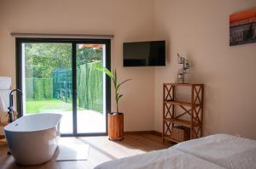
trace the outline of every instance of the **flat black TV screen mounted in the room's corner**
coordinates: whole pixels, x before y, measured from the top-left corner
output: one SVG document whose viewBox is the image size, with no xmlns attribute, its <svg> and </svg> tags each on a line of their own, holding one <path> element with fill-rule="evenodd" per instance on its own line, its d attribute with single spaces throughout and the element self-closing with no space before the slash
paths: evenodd
<svg viewBox="0 0 256 169">
<path fill-rule="evenodd" d="M 166 42 L 124 42 L 124 66 L 166 65 Z"/>
</svg>

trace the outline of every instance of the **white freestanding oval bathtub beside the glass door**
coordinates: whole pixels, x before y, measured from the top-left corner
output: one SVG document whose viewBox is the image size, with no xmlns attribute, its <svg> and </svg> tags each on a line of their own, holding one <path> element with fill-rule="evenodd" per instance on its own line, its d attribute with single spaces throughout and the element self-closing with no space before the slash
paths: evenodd
<svg viewBox="0 0 256 169">
<path fill-rule="evenodd" d="M 61 135 L 61 116 L 52 113 L 26 115 L 4 127 L 16 163 L 37 165 L 53 157 Z"/>
</svg>

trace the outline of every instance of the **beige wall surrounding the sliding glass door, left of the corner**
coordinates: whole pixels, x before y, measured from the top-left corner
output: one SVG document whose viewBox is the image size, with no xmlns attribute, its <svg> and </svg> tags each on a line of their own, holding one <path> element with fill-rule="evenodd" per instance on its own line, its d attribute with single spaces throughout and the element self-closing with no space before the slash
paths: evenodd
<svg viewBox="0 0 256 169">
<path fill-rule="evenodd" d="M 133 79 L 121 88 L 125 131 L 153 130 L 154 68 L 122 66 L 123 42 L 153 37 L 153 4 L 148 0 L 1 0 L 0 76 L 12 76 L 15 87 L 15 38 L 10 32 L 113 34 L 112 67 L 117 68 L 120 81 Z"/>
</svg>

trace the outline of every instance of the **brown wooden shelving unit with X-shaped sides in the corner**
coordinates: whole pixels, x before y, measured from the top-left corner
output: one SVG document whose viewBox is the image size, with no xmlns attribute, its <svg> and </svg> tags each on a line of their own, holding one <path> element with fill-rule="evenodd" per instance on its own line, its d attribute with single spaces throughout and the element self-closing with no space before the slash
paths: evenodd
<svg viewBox="0 0 256 169">
<path fill-rule="evenodd" d="M 190 87 L 191 99 L 190 102 L 177 100 L 177 87 Z M 163 132 L 162 139 L 171 140 L 172 142 L 182 142 L 177 138 L 177 132 L 183 131 L 183 128 L 189 128 L 189 138 L 201 138 L 203 135 L 203 99 L 204 85 L 203 84 L 163 84 Z M 177 113 L 177 107 L 183 112 Z M 184 117 L 186 117 L 184 119 Z M 177 129 L 182 128 L 182 129 Z"/>
</svg>

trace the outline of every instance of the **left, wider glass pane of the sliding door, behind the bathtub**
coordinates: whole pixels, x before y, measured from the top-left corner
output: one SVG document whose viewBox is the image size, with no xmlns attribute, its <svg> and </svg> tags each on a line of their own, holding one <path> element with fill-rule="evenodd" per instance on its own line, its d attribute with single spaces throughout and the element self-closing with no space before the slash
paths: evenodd
<svg viewBox="0 0 256 169">
<path fill-rule="evenodd" d="M 22 42 L 23 114 L 60 113 L 73 133 L 72 43 Z"/>
</svg>

